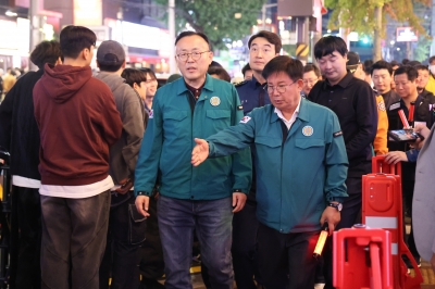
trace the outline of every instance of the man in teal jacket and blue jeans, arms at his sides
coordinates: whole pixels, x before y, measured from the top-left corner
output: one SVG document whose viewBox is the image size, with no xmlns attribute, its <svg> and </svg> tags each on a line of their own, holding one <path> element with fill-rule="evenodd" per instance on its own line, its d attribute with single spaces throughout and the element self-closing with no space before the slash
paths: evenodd
<svg viewBox="0 0 435 289">
<path fill-rule="evenodd" d="M 207 138 L 237 124 L 243 106 L 235 87 L 207 74 L 213 53 L 206 35 L 182 33 L 175 42 L 183 78 L 160 88 L 136 165 L 138 211 L 147 216 L 159 184 L 158 218 L 165 263 L 165 288 L 191 288 L 194 229 L 213 288 L 233 288 L 233 212 L 240 211 L 251 183 L 249 149 L 190 164 L 194 137 Z"/>
</svg>

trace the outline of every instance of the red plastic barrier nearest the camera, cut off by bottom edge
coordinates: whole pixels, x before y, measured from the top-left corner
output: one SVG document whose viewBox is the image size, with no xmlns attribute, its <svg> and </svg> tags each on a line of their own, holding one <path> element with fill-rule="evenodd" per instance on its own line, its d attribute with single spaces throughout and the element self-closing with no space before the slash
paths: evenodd
<svg viewBox="0 0 435 289">
<path fill-rule="evenodd" d="M 395 288 L 390 233 L 384 229 L 356 227 L 334 231 L 334 287 Z"/>
</svg>

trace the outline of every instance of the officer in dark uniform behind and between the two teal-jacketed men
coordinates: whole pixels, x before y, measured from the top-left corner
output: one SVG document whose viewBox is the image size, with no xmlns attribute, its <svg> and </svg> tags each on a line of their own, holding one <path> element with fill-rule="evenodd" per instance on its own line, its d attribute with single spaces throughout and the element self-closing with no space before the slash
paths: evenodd
<svg viewBox="0 0 435 289">
<path fill-rule="evenodd" d="M 261 75 L 265 64 L 279 54 L 282 42 L 274 33 L 261 30 L 248 41 L 249 65 L 253 71 L 252 78 L 236 85 L 244 106 L 245 115 L 253 109 L 270 104 L 268 91 L 263 89 L 265 79 Z M 253 154 L 254 146 L 251 147 Z M 256 168 L 253 167 L 253 171 Z M 252 187 L 244 210 L 233 217 L 233 267 L 238 289 L 256 289 L 253 276 L 261 284 L 256 264 L 256 241 L 258 221 L 256 217 L 256 173 L 252 172 Z"/>
</svg>

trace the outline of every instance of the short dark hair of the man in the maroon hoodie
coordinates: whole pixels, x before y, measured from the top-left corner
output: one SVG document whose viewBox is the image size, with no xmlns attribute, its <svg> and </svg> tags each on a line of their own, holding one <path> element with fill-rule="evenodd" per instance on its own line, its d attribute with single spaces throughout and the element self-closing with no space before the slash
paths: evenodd
<svg viewBox="0 0 435 289">
<path fill-rule="evenodd" d="M 60 35 L 61 51 L 64 58 L 76 59 L 84 49 L 96 46 L 96 34 L 84 26 L 70 25 Z"/>
</svg>

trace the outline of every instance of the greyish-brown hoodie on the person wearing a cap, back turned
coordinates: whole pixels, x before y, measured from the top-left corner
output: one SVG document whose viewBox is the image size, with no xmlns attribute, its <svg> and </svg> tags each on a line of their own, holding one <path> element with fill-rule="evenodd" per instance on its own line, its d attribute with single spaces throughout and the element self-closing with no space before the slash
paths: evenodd
<svg viewBox="0 0 435 289">
<path fill-rule="evenodd" d="M 112 90 L 123 123 L 121 138 L 110 148 L 109 173 L 115 185 L 133 178 L 146 128 L 144 103 L 136 91 L 117 74 L 101 72 L 96 78 Z"/>
</svg>

